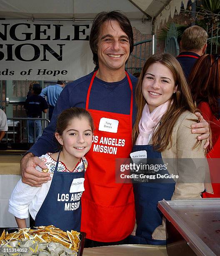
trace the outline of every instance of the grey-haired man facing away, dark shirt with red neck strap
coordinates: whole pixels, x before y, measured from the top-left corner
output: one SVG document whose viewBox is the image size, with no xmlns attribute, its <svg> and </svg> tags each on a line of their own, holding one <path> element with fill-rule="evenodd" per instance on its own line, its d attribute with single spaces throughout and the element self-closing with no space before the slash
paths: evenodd
<svg viewBox="0 0 220 256">
<path fill-rule="evenodd" d="M 177 59 L 187 80 L 195 62 L 205 53 L 207 38 L 208 34 L 205 29 L 199 26 L 192 26 L 183 32 L 180 41 L 180 54 Z"/>
</svg>

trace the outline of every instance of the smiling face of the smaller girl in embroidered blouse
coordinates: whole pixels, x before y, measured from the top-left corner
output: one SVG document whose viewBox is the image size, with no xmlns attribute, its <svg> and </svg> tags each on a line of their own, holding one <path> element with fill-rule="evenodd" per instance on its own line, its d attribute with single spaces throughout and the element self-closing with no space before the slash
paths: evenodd
<svg viewBox="0 0 220 256">
<path fill-rule="evenodd" d="M 64 155 L 80 159 L 92 145 L 92 128 L 86 118 L 73 118 L 60 136 L 55 133 L 57 141 L 62 145 Z"/>
</svg>

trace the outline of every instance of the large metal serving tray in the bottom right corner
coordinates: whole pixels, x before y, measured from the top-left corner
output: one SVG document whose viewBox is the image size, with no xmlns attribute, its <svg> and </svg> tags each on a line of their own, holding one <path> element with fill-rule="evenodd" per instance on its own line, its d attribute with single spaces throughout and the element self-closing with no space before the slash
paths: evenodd
<svg viewBox="0 0 220 256">
<path fill-rule="evenodd" d="M 220 198 L 163 200 L 158 208 L 166 218 L 169 256 L 220 256 Z M 180 236 L 190 248 L 182 246 Z"/>
</svg>

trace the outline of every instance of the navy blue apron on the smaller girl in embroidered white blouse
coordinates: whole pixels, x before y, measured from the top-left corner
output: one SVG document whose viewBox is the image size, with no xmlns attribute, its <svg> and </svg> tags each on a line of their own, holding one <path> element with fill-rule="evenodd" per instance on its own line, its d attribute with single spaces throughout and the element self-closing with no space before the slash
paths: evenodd
<svg viewBox="0 0 220 256">
<path fill-rule="evenodd" d="M 60 153 L 50 189 L 37 212 L 35 225 L 54 225 L 64 231 L 80 231 L 82 192 L 70 193 L 70 187 L 73 179 L 84 178 L 85 166 L 83 172 L 57 172 L 59 156 Z"/>
</svg>

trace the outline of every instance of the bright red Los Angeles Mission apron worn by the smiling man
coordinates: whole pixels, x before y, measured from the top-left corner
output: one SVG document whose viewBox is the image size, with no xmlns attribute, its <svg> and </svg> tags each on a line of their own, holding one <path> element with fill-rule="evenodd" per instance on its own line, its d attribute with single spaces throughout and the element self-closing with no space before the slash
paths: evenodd
<svg viewBox="0 0 220 256">
<path fill-rule="evenodd" d="M 115 159 L 128 158 L 132 149 L 133 88 L 126 72 L 131 89 L 130 115 L 89 109 L 95 75 L 96 72 L 92 76 L 86 99 L 86 110 L 95 123 L 95 139 L 86 154 L 88 168 L 85 173 L 85 192 L 82 194 L 81 231 L 94 241 L 116 242 L 129 236 L 135 225 L 133 186 L 115 183 Z M 116 123 L 118 121 L 117 132 L 100 131 L 103 125 L 102 128 L 99 126 L 105 118 L 113 119 Z"/>
</svg>

